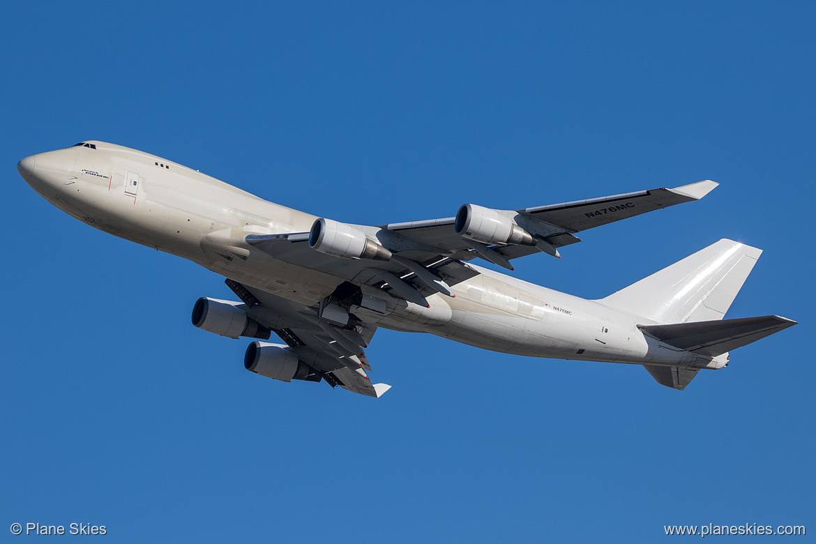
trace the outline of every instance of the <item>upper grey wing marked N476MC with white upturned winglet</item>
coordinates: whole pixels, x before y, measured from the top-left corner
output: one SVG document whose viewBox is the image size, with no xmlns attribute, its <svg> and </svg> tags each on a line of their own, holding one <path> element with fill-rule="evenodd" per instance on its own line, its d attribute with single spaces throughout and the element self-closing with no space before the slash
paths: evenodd
<svg viewBox="0 0 816 544">
<path fill-rule="evenodd" d="M 660 210 L 683 202 L 698 200 L 716 187 L 713 181 L 701 181 L 683 187 L 628 192 L 611 197 L 564 202 L 524 210 L 486 210 L 499 223 L 529 230 L 526 243 L 483 243 L 456 232 L 456 218 L 430 219 L 410 223 L 390 223 L 379 227 L 346 225 L 343 236 L 366 237 L 383 250 L 377 257 L 339 259 L 309 245 L 309 232 L 249 234 L 247 244 L 276 259 L 304 268 L 325 272 L 355 285 L 370 285 L 410 302 L 428 306 L 426 297 L 441 293 L 450 296 L 450 286 L 466 281 L 478 272 L 467 262 L 486 259 L 512 270 L 511 259 L 543 251 L 560 257 L 557 248 L 581 241 L 575 232 L 619 219 Z M 468 205 L 471 206 L 471 205 Z M 465 207 L 465 206 L 463 206 Z M 326 222 L 322 228 L 329 224 Z M 508 229 L 511 227 L 508 227 Z M 351 229 L 351 230 L 349 230 Z M 339 232 L 339 231 L 338 231 Z M 344 238 L 344 243 L 346 239 Z M 388 257 L 382 257 L 387 254 Z"/>
</svg>

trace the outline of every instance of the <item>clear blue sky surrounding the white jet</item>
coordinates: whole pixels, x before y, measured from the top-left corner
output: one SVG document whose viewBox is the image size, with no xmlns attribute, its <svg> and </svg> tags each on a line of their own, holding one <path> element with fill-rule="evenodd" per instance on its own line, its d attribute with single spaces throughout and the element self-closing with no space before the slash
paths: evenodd
<svg viewBox="0 0 816 544">
<path fill-rule="evenodd" d="M 508 2 L 504 2 L 508 3 Z M 341 2 L 342 4 L 342 2 Z M 814 504 L 812 2 L 6 2 L 0 540 L 657 542 Z M 353 223 L 700 179 L 516 275 L 596 298 L 720 238 L 729 313 L 800 325 L 685 391 L 637 366 L 380 330 L 379 400 L 246 372 L 223 278 L 95 231 L 20 158 L 101 139 Z"/>
</svg>

